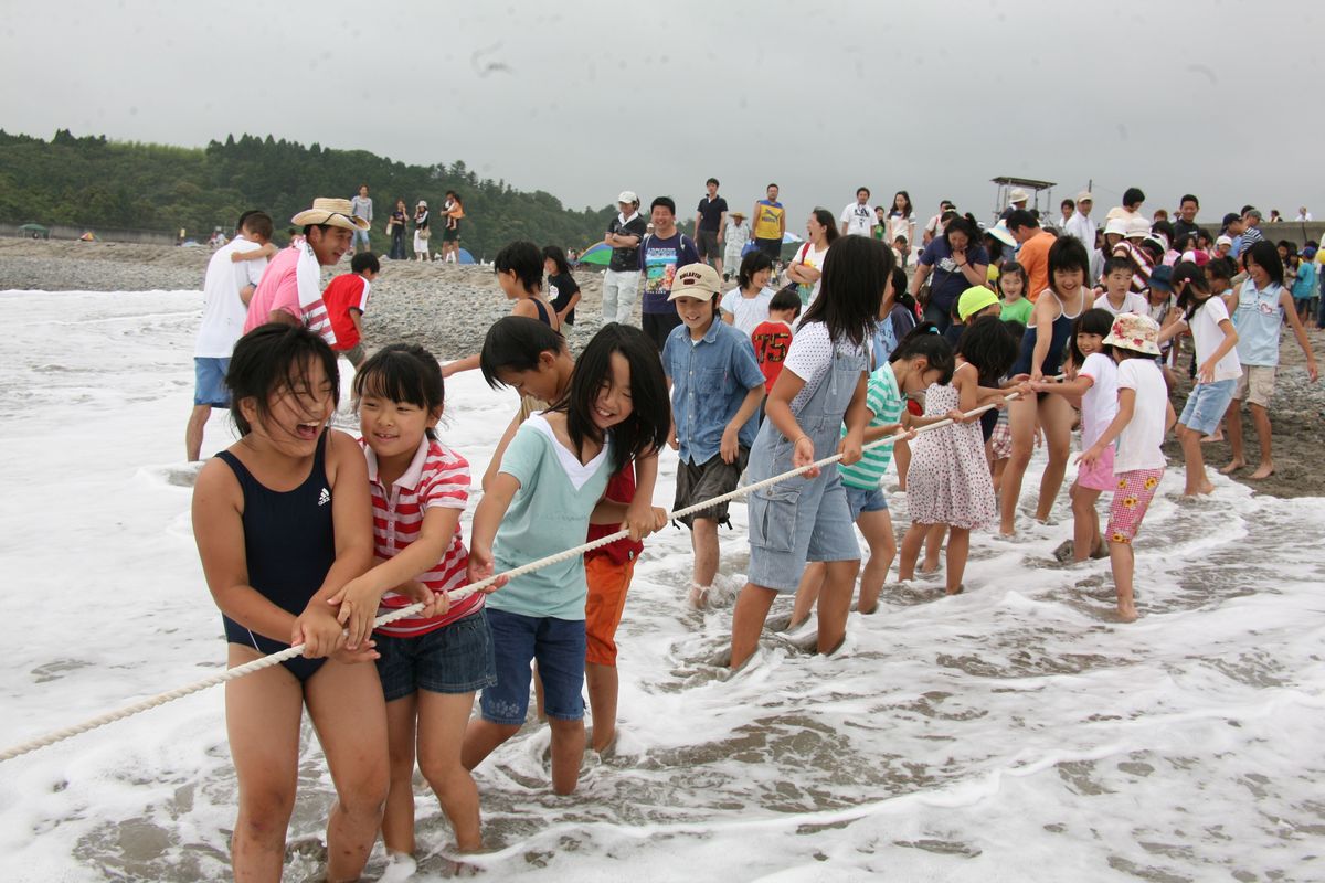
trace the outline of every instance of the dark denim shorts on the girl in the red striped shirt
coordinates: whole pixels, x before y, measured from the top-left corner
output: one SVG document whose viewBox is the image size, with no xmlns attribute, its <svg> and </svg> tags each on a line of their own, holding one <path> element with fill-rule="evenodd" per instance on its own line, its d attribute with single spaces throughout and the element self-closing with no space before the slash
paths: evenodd
<svg viewBox="0 0 1325 883">
<path fill-rule="evenodd" d="M 387 702 L 428 692 L 465 694 L 497 683 L 492 633 L 484 610 L 415 638 L 375 634 L 378 676 Z"/>
</svg>

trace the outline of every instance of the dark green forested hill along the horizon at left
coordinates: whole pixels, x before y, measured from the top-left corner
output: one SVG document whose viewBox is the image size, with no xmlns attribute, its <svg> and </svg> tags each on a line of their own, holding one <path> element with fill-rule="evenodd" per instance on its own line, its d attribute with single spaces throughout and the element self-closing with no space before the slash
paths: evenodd
<svg viewBox="0 0 1325 883">
<path fill-rule="evenodd" d="M 205 148 L 76 138 L 61 128 L 45 142 L 0 130 L 0 221 L 227 236 L 249 208 L 272 214 L 284 241 L 289 218 L 315 196 L 348 199 L 368 184 L 374 248 L 386 250 L 386 221 L 396 197 L 412 217 L 417 200 L 436 209 L 460 193 L 466 220 L 461 246 L 488 258 L 511 240 L 583 248 L 603 238 L 613 207 L 579 212 L 551 193 L 526 193 L 502 180 L 450 165 L 405 165 L 359 150 L 303 147 L 270 135 L 229 135 Z M 407 245 L 408 248 L 408 245 Z"/>
</svg>

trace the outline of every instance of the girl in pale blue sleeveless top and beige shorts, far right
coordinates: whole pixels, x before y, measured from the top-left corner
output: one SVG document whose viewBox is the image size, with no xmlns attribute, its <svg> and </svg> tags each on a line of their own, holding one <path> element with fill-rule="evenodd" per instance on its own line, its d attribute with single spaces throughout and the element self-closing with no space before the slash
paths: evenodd
<svg viewBox="0 0 1325 883">
<path fill-rule="evenodd" d="M 1284 265 L 1279 252 L 1269 242 L 1253 242 L 1244 256 L 1247 275 L 1242 289 L 1234 297 L 1234 327 L 1238 328 L 1238 360 L 1242 363 L 1242 379 L 1234 391 L 1228 405 L 1228 446 L 1232 447 L 1232 461 L 1220 469 L 1224 475 L 1236 473 L 1247 465 L 1243 458 L 1242 402 L 1251 402 L 1251 417 L 1260 440 L 1260 466 L 1251 474 L 1253 481 L 1275 474 L 1275 459 L 1271 447 L 1269 400 L 1275 395 L 1275 369 L 1279 365 L 1279 330 L 1288 319 L 1297 346 L 1306 356 L 1306 376 L 1312 383 L 1318 379 L 1316 356 L 1306 339 L 1293 298 L 1284 290 Z"/>
</svg>

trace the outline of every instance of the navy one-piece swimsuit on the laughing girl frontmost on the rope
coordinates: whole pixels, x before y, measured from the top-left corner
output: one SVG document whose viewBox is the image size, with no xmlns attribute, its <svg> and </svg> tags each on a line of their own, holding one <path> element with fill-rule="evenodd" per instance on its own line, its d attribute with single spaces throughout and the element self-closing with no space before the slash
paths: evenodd
<svg viewBox="0 0 1325 883">
<path fill-rule="evenodd" d="M 288 613 L 298 616 L 322 588 L 335 561 L 335 528 L 331 520 L 331 483 L 326 475 L 327 436 L 318 440 L 313 470 L 293 491 L 273 491 L 260 483 L 229 451 L 216 455 L 235 471 L 244 490 L 244 555 L 249 585 Z M 225 639 L 258 653 L 272 654 L 290 645 L 225 621 Z M 326 659 L 298 657 L 282 662 L 290 674 L 307 680 Z"/>
</svg>

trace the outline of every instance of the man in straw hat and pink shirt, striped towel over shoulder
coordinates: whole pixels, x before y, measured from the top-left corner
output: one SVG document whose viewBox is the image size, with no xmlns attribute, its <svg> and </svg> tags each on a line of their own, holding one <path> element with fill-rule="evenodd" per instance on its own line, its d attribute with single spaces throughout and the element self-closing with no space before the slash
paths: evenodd
<svg viewBox="0 0 1325 883">
<path fill-rule="evenodd" d="M 335 346 L 335 331 L 322 302 L 322 267 L 335 266 L 350 250 L 354 232 L 368 222 L 354 214 L 350 200 L 321 196 L 290 222 L 303 228 L 303 242 L 272 258 L 249 302 L 244 334 L 268 322 L 302 324 Z"/>
</svg>

